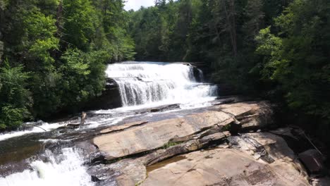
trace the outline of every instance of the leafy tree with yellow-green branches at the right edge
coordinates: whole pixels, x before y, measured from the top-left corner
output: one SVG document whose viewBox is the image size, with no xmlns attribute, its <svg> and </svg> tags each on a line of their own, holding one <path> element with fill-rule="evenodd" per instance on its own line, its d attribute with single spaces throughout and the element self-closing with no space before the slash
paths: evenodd
<svg viewBox="0 0 330 186">
<path fill-rule="evenodd" d="M 330 117 L 329 3 L 295 0 L 275 19 L 278 37 L 261 30 L 263 77 L 281 83 L 293 109 Z M 328 92 L 328 93 L 326 93 Z"/>
</svg>

